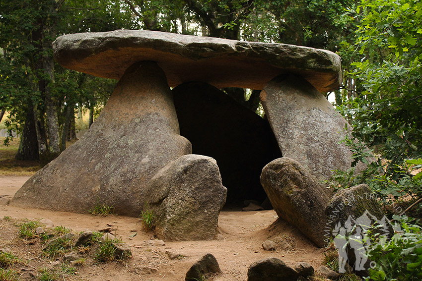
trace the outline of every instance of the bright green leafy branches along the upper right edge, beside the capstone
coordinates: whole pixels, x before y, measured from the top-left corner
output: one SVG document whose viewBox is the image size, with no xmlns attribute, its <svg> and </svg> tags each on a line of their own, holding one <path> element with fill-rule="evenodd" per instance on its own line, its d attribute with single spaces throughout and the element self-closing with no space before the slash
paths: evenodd
<svg viewBox="0 0 422 281">
<path fill-rule="evenodd" d="M 397 167 L 422 155 L 422 2 L 362 0 L 349 16 L 359 22 L 354 46 L 343 44 L 356 87 L 340 110 L 353 137 L 379 150 L 397 180 Z"/>
</svg>

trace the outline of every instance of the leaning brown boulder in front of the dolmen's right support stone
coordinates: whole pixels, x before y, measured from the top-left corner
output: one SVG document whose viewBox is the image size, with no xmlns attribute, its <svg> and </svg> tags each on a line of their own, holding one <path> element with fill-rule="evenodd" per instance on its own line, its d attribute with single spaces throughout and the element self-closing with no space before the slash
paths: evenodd
<svg viewBox="0 0 422 281">
<path fill-rule="evenodd" d="M 264 167 L 261 183 L 277 215 L 323 247 L 324 210 L 330 199 L 310 173 L 298 162 L 283 157 Z"/>
</svg>

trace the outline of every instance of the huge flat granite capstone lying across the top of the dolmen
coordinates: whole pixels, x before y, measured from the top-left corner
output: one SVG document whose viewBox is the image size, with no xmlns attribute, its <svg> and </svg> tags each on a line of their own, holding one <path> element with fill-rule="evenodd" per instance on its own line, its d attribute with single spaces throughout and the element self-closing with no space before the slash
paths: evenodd
<svg viewBox="0 0 422 281">
<path fill-rule="evenodd" d="M 156 61 L 170 87 L 201 81 L 217 88 L 262 89 L 286 72 L 302 75 L 321 92 L 336 90 L 341 83 L 339 56 L 285 44 L 116 30 L 64 35 L 53 42 L 53 50 L 67 68 L 113 79 L 137 61 Z"/>
</svg>

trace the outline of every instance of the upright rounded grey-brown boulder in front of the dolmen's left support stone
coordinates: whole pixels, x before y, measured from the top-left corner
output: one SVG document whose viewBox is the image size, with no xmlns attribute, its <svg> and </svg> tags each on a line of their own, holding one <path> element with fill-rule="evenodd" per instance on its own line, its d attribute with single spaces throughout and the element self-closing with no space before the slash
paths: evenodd
<svg viewBox="0 0 422 281">
<path fill-rule="evenodd" d="M 154 175 L 146 192 L 159 238 L 180 241 L 215 237 L 227 189 L 211 157 L 180 157 Z"/>
</svg>

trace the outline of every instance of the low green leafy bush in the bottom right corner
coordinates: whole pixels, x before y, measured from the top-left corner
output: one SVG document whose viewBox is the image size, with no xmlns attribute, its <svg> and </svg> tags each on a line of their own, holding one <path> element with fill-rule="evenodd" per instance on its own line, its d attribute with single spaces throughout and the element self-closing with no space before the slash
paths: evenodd
<svg viewBox="0 0 422 281">
<path fill-rule="evenodd" d="M 382 239 L 368 253 L 373 267 L 369 278 L 374 281 L 419 281 L 422 279 L 422 228 L 410 225 L 406 218 L 401 220 L 404 233 L 396 233 L 388 239 L 380 237 L 376 231 L 367 235 L 375 243 Z"/>
</svg>

